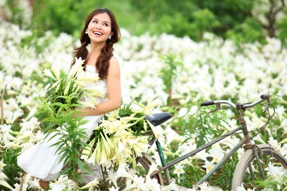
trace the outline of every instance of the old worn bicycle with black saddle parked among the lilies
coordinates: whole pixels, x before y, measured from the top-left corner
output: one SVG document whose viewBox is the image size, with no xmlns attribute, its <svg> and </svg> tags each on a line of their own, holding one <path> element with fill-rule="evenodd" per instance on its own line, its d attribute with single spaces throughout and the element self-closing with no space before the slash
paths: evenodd
<svg viewBox="0 0 287 191">
<path fill-rule="evenodd" d="M 168 168 L 183 161 L 184 159 L 187 159 L 191 157 L 192 155 L 199 153 L 200 151 L 212 146 L 213 144 L 225 139 L 226 137 L 237 134 L 237 133 L 243 133 L 243 138 L 237 143 L 237 145 L 231 149 L 229 153 L 227 153 L 204 177 L 201 178 L 200 181 L 197 182 L 195 186 L 198 186 L 205 182 L 211 175 L 219 169 L 224 162 L 226 162 L 234 153 L 236 153 L 241 147 L 244 148 L 244 153 L 240 157 L 239 162 L 236 166 L 236 169 L 234 171 L 234 176 L 233 176 L 233 181 L 232 181 L 232 190 L 236 191 L 239 186 L 241 186 L 242 183 L 244 183 L 244 186 L 246 188 L 250 187 L 256 187 L 256 180 L 266 180 L 266 172 L 265 168 L 268 167 L 268 165 L 272 164 L 274 166 L 282 166 L 285 169 L 287 169 L 287 160 L 284 156 L 282 156 L 280 153 L 278 153 L 273 146 L 268 145 L 268 144 L 261 144 L 261 145 L 255 145 L 251 143 L 252 138 L 249 136 L 249 131 L 246 125 L 246 121 L 242 115 L 242 111 L 244 112 L 246 108 L 251 108 L 257 104 L 261 104 L 261 102 L 267 100 L 267 104 L 265 106 L 265 109 L 263 111 L 268 111 L 268 121 L 259 129 L 259 133 L 266 127 L 268 124 L 269 120 L 272 118 L 272 115 L 270 117 L 269 109 L 268 106 L 271 105 L 270 103 L 270 95 L 269 94 L 262 94 L 260 96 L 260 99 L 253 103 L 248 103 L 248 104 L 234 104 L 230 101 L 227 100 L 218 100 L 218 101 L 207 101 L 207 102 L 202 102 L 200 103 L 200 106 L 210 106 L 210 105 L 216 105 L 216 108 L 209 113 L 216 112 L 218 110 L 221 110 L 221 104 L 227 104 L 230 105 L 232 108 L 236 108 L 238 115 L 239 115 L 239 126 L 228 133 L 212 140 L 211 142 L 195 149 L 194 151 L 184 154 L 170 162 L 166 162 L 164 155 L 163 155 L 163 150 L 161 147 L 160 142 L 153 136 L 149 144 L 150 146 L 152 144 L 156 144 L 156 148 L 160 160 L 161 160 L 161 166 L 158 168 L 157 171 L 153 172 L 150 176 L 157 179 L 158 183 L 160 185 L 164 184 L 164 179 L 161 175 L 161 172 L 164 172 L 165 175 L 165 181 L 167 184 L 171 183 L 171 178 L 169 174 Z M 261 104 L 262 105 L 262 104 Z M 272 105 L 271 105 L 272 106 Z M 229 108 L 230 108 L 229 107 Z M 272 106 L 273 107 L 273 106 Z M 274 107 L 273 107 L 274 108 Z M 152 114 L 152 115 L 147 115 L 146 119 L 149 120 L 154 126 L 160 125 L 163 122 L 167 121 L 170 119 L 172 115 L 170 113 L 164 112 L 164 113 L 159 113 L 159 114 Z M 238 131 L 242 132 L 238 132 Z M 258 134 L 259 134 L 258 133 Z M 143 157 L 137 158 L 137 162 L 140 162 L 144 169 L 146 171 L 149 170 L 149 166 L 153 162 L 151 157 L 148 154 L 145 154 Z M 269 164 L 270 163 L 270 164 Z M 248 172 L 248 170 L 249 172 Z"/>
</svg>

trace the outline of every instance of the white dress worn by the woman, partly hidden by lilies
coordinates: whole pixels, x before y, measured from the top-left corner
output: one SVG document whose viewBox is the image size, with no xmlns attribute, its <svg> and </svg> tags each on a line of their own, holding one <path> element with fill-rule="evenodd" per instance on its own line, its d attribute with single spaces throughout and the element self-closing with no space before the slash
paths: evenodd
<svg viewBox="0 0 287 191">
<path fill-rule="evenodd" d="M 86 65 L 87 75 L 90 73 L 96 73 L 96 68 L 90 65 Z M 107 86 L 105 80 L 99 80 L 97 82 L 88 83 L 87 87 L 101 86 L 104 89 L 104 92 L 107 96 Z M 106 99 L 95 97 L 98 103 L 107 101 Z M 83 97 L 85 101 L 89 101 L 89 97 Z M 91 115 L 85 116 L 83 120 L 88 121 L 86 124 L 81 125 L 80 128 L 85 128 L 87 134 L 90 137 L 92 131 L 97 126 L 98 121 L 103 115 Z M 56 146 L 50 147 L 52 144 L 56 143 L 59 139 L 58 136 L 55 136 L 53 139 L 49 140 L 52 134 L 48 136 L 45 140 L 37 143 L 24 153 L 21 153 L 17 157 L 17 164 L 20 166 L 26 173 L 30 173 L 32 176 L 41 178 L 44 181 L 54 181 L 58 178 L 60 171 L 62 170 L 64 163 L 59 162 L 61 155 L 55 154 Z M 49 140 L 49 141 L 48 141 Z M 89 164 L 90 168 L 91 165 Z M 96 166 L 98 168 L 98 166 Z M 95 168 L 95 166 L 94 166 Z M 93 176 L 95 177 L 95 176 Z M 90 178 L 89 178 L 90 179 Z M 89 180 L 90 182 L 92 180 Z M 86 182 L 86 181 L 84 181 Z"/>
</svg>

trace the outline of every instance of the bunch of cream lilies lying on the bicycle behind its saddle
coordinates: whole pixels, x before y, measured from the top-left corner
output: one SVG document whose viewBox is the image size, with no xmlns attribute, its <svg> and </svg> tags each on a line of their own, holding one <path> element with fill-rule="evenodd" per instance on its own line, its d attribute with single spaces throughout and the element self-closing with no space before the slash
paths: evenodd
<svg viewBox="0 0 287 191">
<path fill-rule="evenodd" d="M 131 102 L 130 104 L 105 115 L 94 130 L 93 138 L 81 158 L 88 163 L 95 162 L 103 166 L 120 166 L 129 162 L 136 166 L 136 157 L 148 151 L 148 132 L 158 135 L 156 128 L 145 119 L 159 106 L 157 98 L 147 106 Z M 93 147 L 96 146 L 96 147 Z"/>
</svg>

